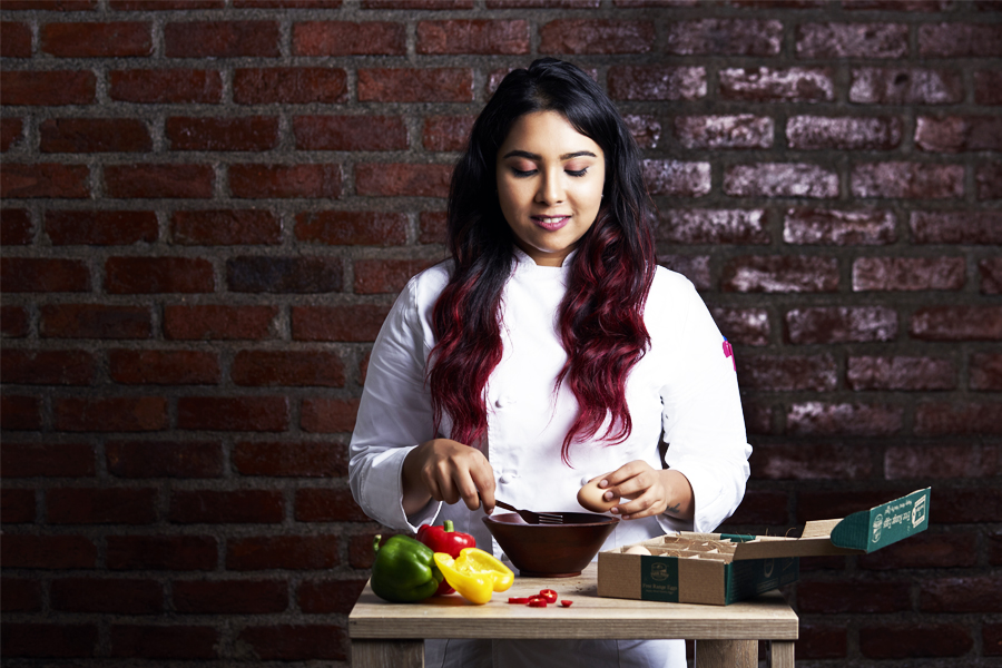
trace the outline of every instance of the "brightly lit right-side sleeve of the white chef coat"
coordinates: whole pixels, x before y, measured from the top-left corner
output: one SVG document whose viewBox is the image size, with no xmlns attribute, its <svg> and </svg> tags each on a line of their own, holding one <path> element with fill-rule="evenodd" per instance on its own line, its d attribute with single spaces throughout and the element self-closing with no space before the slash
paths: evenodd
<svg viewBox="0 0 1002 668">
<path fill-rule="evenodd" d="M 752 446 L 729 344 L 691 283 L 674 292 L 679 317 L 671 327 L 670 380 L 661 390 L 665 461 L 692 485 L 694 531 L 711 532 L 745 495 Z M 677 524 L 659 521 L 666 531 Z"/>
</svg>

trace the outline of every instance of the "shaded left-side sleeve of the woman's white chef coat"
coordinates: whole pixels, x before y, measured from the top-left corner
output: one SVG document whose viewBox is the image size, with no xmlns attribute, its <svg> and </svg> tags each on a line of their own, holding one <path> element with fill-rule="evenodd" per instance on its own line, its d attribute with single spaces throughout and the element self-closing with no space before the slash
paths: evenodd
<svg viewBox="0 0 1002 668">
<path fill-rule="evenodd" d="M 418 307 L 418 278 L 396 298 L 376 337 L 352 433 L 348 481 L 352 494 L 373 520 L 416 531 L 433 523 L 441 502 L 430 501 L 411 517 L 403 510 L 403 461 L 434 438 L 431 396 L 425 386 L 430 347 Z"/>
</svg>

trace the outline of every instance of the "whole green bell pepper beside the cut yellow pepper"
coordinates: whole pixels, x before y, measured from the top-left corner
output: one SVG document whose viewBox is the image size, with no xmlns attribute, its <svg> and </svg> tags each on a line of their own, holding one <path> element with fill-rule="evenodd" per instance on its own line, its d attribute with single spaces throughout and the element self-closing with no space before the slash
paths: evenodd
<svg viewBox="0 0 1002 668">
<path fill-rule="evenodd" d="M 431 548 L 406 536 L 393 536 L 382 548 L 380 536 L 372 549 L 372 591 L 394 603 L 414 603 L 432 596 L 442 582 Z"/>
</svg>

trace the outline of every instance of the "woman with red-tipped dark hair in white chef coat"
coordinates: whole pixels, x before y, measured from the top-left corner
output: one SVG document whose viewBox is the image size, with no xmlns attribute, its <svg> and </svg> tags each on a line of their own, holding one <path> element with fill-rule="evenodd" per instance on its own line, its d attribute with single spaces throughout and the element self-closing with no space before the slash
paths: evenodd
<svg viewBox="0 0 1002 668">
<path fill-rule="evenodd" d="M 501 556 L 480 521 L 495 497 L 580 511 L 597 475 L 623 497 L 603 549 L 734 512 L 750 454 L 734 361 L 692 285 L 657 266 L 655 215 L 598 85 L 554 59 L 504 78 L 453 174 L 452 259 L 411 279 L 373 347 L 350 474 L 371 518 L 451 519 Z M 678 640 L 428 648 L 429 666 L 685 666 Z"/>
</svg>

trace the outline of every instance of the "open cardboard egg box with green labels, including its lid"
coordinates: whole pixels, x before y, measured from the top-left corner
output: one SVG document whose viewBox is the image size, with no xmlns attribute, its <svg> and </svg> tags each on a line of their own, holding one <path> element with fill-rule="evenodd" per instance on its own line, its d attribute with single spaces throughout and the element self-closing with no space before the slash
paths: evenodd
<svg viewBox="0 0 1002 668">
<path fill-rule="evenodd" d="M 931 488 L 843 520 L 807 522 L 799 538 L 691 533 L 599 552 L 598 595 L 727 606 L 795 582 L 800 557 L 864 554 L 929 527 Z M 635 546 L 651 556 L 629 554 Z"/>
</svg>

